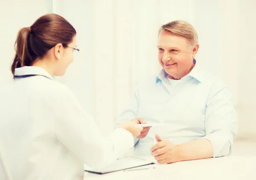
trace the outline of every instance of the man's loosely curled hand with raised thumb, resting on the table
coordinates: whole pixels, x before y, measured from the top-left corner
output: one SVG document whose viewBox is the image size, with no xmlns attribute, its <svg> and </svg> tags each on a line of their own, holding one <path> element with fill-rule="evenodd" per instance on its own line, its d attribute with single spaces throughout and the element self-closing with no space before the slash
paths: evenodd
<svg viewBox="0 0 256 180">
<path fill-rule="evenodd" d="M 150 149 L 158 163 L 175 163 L 180 161 L 180 153 L 176 145 L 171 141 L 163 140 L 156 134 L 157 143 Z"/>
</svg>

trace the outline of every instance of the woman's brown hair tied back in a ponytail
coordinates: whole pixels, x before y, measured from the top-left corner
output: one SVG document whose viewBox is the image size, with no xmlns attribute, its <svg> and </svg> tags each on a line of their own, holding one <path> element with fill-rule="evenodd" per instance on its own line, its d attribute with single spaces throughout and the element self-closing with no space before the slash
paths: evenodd
<svg viewBox="0 0 256 180">
<path fill-rule="evenodd" d="M 75 28 L 57 14 L 46 14 L 30 27 L 21 28 L 15 42 L 16 54 L 11 68 L 13 76 L 15 68 L 31 66 L 32 62 L 43 58 L 58 43 L 66 48 L 75 35 Z"/>
</svg>

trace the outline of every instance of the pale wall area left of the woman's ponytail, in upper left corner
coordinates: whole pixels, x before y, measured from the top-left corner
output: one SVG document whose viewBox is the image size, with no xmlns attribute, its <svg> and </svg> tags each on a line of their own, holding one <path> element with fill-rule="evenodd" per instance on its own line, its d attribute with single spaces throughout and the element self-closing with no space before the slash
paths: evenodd
<svg viewBox="0 0 256 180">
<path fill-rule="evenodd" d="M 12 78 L 11 62 L 14 44 L 20 28 L 29 27 L 35 20 L 51 13 L 51 0 L 1 0 L 0 2 L 0 84 Z"/>
</svg>

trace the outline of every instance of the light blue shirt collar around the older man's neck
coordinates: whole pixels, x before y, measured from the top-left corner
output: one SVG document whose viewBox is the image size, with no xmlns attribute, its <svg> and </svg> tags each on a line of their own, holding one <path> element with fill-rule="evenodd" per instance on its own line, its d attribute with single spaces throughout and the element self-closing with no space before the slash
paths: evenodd
<svg viewBox="0 0 256 180">
<path fill-rule="evenodd" d="M 197 62 L 194 68 L 190 71 L 190 73 L 188 73 L 183 78 L 190 76 L 197 79 L 199 82 L 202 82 L 204 75 L 205 75 L 204 70 L 201 68 L 201 65 L 198 64 Z M 163 79 L 165 79 L 166 77 L 167 77 L 166 71 L 164 69 L 160 70 L 160 73 L 158 73 L 156 77 L 156 83 L 159 82 L 160 80 L 163 81 Z"/>
</svg>

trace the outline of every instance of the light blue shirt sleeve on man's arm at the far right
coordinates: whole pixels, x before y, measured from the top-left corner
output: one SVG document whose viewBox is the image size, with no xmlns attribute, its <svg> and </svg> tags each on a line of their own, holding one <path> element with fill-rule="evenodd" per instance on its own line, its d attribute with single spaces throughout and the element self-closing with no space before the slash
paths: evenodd
<svg viewBox="0 0 256 180">
<path fill-rule="evenodd" d="M 213 158 L 230 155 L 237 133 L 237 116 L 230 90 L 215 82 L 209 92 L 205 114 L 205 139 L 212 143 Z"/>
</svg>

